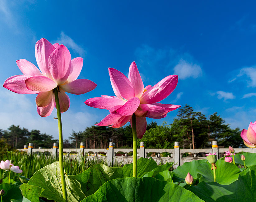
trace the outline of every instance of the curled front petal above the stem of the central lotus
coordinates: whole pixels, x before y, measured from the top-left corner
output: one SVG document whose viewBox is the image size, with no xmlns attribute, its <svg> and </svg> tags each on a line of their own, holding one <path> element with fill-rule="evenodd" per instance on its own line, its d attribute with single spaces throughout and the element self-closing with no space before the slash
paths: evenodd
<svg viewBox="0 0 256 202">
<path fill-rule="evenodd" d="M 110 109 L 110 113 L 117 113 L 122 116 L 129 116 L 132 115 L 140 105 L 140 99 L 137 97 L 133 97 L 128 100 L 123 106 L 119 107 L 118 109 Z M 115 107 L 114 107 L 115 108 Z"/>
</svg>

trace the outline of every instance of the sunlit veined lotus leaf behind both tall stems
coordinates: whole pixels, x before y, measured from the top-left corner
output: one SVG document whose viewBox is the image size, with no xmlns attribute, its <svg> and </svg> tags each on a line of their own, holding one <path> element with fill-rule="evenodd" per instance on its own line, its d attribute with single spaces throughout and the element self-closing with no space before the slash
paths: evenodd
<svg viewBox="0 0 256 202">
<path fill-rule="evenodd" d="M 137 176 L 142 177 L 156 167 L 157 164 L 153 159 L 140 158 L 137 161 Z M 86 196 L 95 193 L 105 182 L 130 176 L 133 176 L 133 164 L 126 164 L 122 168 L 96 164 L 77 175 L 66 175 L 68 200 L 80 201 Z M 58 161 L 38 170 L 27 184 L 43 188 L 42 197 L 55 201 L 63 200 Z"/>
</svg>

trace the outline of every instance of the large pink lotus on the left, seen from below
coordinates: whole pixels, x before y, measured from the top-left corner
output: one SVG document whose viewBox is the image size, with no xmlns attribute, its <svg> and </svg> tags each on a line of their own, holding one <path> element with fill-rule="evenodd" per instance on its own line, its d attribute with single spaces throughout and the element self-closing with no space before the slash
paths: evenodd
<svg viewBox="0 0 256 202">
<path fill-rule="evenodd" d="M 55 106 L 54 88 L 58 89 L 61 112 L 65 112 L 70 105 L 65 92 L 80 95 L 96 87 L 96 84 L 88 79 L 77 79 L 83 59 L 77 57 L 71 60 L 70 52 L 64 45 L 52 45 L 42 38 L 35 44 L 35 59 L 41 72 L 31 62 L 17 60 L 23 75 L 8 78 L 3 87 L 21 94 L 37 93 L 35 101 L 40 116 L 49 116 L 52 113 Z"/>
</svg>

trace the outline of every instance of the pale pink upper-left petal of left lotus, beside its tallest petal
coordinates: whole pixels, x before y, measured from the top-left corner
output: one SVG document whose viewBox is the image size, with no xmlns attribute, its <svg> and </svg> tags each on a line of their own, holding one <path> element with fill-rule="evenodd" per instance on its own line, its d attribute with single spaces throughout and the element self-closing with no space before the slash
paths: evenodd
<svg viewBox="0 0 256 202">
<path fill-rule="evenodd" d="M 22 74 L 35 76 L 35 75 L 42 75 L 40 70 L 31 62 L 21 59 L 16 61 L 18 67 L 20 68 Z"/>
</svg>

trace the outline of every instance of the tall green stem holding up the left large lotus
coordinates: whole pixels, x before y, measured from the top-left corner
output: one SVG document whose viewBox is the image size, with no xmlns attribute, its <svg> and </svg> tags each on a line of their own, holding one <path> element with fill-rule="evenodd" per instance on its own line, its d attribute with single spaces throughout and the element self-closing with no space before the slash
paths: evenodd
<svg viewBox="0 0 256 202">
<path fill-rule="evenodd" d="M 63 165 L 62 123 L 61 123 L 60 105 L 59 105 L 59 97 L 58 97 L 58 90 L 57 90 L 57 88 L 54 88 L 54 96 L 55 96 L 57 116 L 58 116 L 58 129 L 59 129 L 59 169 L 60 169 L 60 177 L 61 177 L 62 195 L 63 195 L 63 201 L 67 202 L 67 188 L 66 188 L 64 165 Z"/>
</svg>

